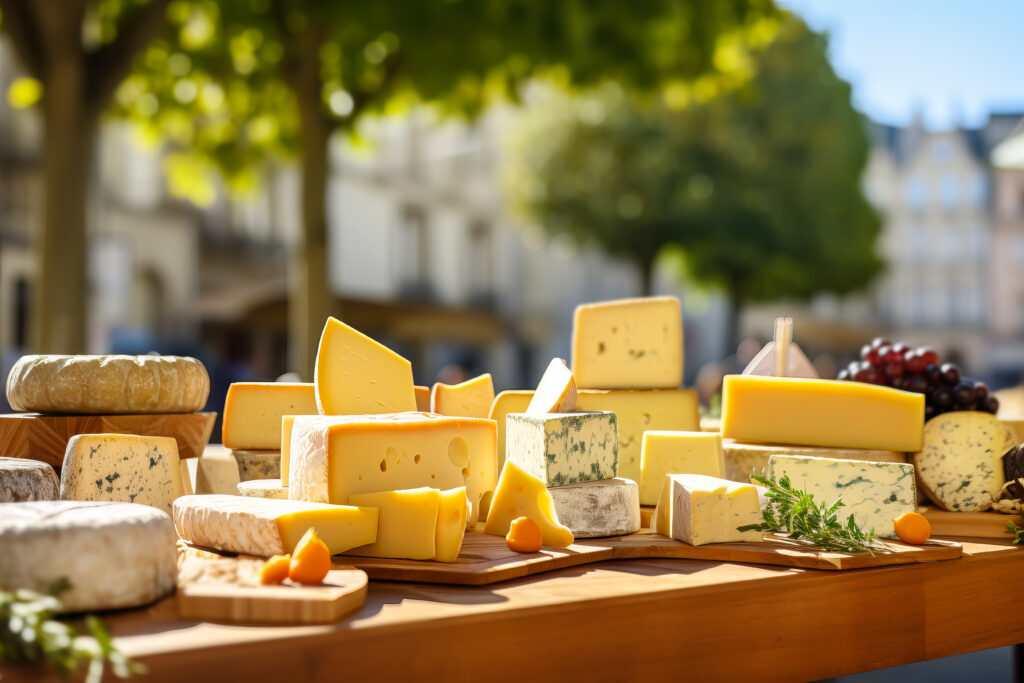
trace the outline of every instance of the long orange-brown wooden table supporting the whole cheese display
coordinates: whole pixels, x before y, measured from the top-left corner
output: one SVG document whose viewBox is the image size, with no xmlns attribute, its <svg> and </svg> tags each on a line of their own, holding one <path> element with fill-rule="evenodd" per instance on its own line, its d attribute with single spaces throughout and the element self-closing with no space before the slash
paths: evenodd
<svg viewBox="0 0 1024 683">
<path fill-rule="evenodd" d="M 148 680 L 175 683 L 813 680 L 1022 642 L 1022 575 L 1024 549 L 978 540 L 959 560 L 849 571 L 634 560 L 481 588 L 374 582 L 329 627 L 185 623 L 173 599 L 108 623 Z"/>
</svg>

